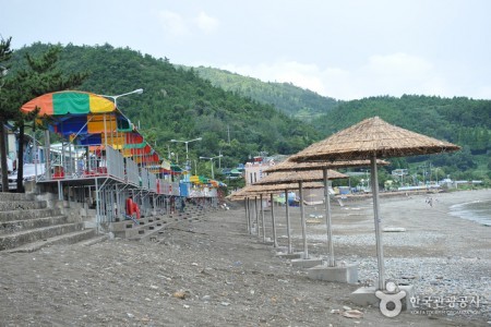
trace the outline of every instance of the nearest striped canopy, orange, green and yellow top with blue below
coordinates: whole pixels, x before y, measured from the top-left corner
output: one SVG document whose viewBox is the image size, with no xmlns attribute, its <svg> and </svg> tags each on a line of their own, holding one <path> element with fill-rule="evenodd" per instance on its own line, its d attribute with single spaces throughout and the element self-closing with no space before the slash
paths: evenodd
<svg viewBox="0 0 491 327">
<path fill-rule="evenodd" d="M 115 102 L 103 96 L 79 90 L 48 93 L 26 102 L 21 111 L 28 113 L 36 109 L 39 110 L 38 117 L 50 118 L 51 132 L 73 144 L 97 146 L 99 149 L 109 145 L 143 166 L 160 161 L 155 149 Z"/>
</svg>

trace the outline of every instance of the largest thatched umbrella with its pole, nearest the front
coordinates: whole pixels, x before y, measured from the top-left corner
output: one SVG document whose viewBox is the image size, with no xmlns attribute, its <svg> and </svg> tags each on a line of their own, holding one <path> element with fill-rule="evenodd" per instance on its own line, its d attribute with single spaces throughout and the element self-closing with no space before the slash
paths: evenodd
<svg viewBox="0 0 491 327">
<path fill-rule="evenodd" d="M 333 134 L 324 141 L 312 144 L 290 158 L 292 161 L 298 162 L 370 159 L 379 289 L 384 290 L 384 256 L 380 226 L 381 219 L 379 217 L 376 158 L 440 154 L 458 149 L 460 147 L 452 143 L 391 125 L 379 117 L 374 117 Z"/>
</svg>

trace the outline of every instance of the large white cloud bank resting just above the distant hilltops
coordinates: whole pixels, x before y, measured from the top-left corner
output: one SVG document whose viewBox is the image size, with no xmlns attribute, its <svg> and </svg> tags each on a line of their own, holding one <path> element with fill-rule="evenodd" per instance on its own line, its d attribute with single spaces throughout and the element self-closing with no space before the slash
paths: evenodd
<svg viewBox="0 0 491 327">
<path fill-rule="evenodd" d="M 421 57 L 408 53 L 374 55 L 349 69 L 278 59 L 256 65 L 221 65 L 221 69 L 265 82 L 287 82 L 336 99 L 403 94 L 452 96 L 445 78 Z M 487 89 L 482 90 L 487 94 Z"/>
</svg>

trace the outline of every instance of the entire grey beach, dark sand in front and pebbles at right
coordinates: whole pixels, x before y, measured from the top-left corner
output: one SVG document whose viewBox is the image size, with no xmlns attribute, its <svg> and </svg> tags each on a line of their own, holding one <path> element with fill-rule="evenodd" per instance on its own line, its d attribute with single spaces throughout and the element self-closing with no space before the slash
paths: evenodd
<svg viewBox="0 0 491 327">
<path fill-rule="evenodd" d="M 491 227 L 450 214 L 452 205 L 491 198 L 491 190 L 381 197 L 386 278 L 416 294 L 479 296 L 460 315 L 404 312 L 394 318 L 349 301 L 357 284 L 310 280 L 279 250 L 247 231 L 244 209 L 169 223 L 156 242 L 112 239 L 0 253 L 0 326 L 490 326 Z M 285 208 L 275 207 L 287 244 Z M 307 208 L 309 251 L 326 255 L 322 206 Z M 291 208 L 301 250 L 299 209 Z M 271 211 L 265 211 L 271 238 Z M 376 280 L 371 199 L 333 204 L 334 252 L 356 263 L 360 284 Z M 470 306 L 470 303 L 468 304 Z M 348 318 L 348 307 L 362 313 Z"/>
</svg>

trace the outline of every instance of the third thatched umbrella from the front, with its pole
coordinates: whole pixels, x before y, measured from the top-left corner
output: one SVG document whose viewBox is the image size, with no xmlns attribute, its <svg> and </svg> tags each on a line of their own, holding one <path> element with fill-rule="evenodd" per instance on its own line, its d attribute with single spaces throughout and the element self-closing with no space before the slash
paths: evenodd
<svg viewBox="0 0 491 327">
<path fill-rule="evenodd" d="M 337 172 L 335 170 L 330 170 L 328 179 L 343 179 L 348 178 L 348 175 Z M 327 170 L 325 172 L 321 172 L 319 170 L 304 170 L 304 171 L 278 171 L 273 172 L 265 178 L 261 179 L 256 184 L 275 184 L 275 183 L 285 183 L 285 182 L 298 182 L 299 183 L 299 195 L 300 195 L 300 219 L 302 226 L 302 238 L 303 238 L 303 258 L 309 258 L 309 249 L 307 244 L 307 222 L 306 222 L 306 214 L 303 208 L 303 192 L 302 192 L 302 183 L 303 182 L 312 182 L 312 181 L 321 181 L 324 180 L 324 190 L 327 190 Z M 288 196 L 286 193 L 285 196 Z M 328 197 L 328 193 L 326 195 Z M 287 217 L 288 218 L 288 217 Z M 330 216 L 331 218 L 331 216 Z M 330 219 L 331 220 L 331 219 Z M 331 225 L 328 225 L 328 230 L 331 230 Z M 330 238 L 331 240 L 331 238 Z M 332 244 L 332 242 L 331 242 Z M 331 246 L 333 247 L 333 246 Z M 334 252 L 330 247 L 330 264 L 332 253 Z M 334 257 L 333 257 L 333 266 L 334 266 Z"/>
</svg>

